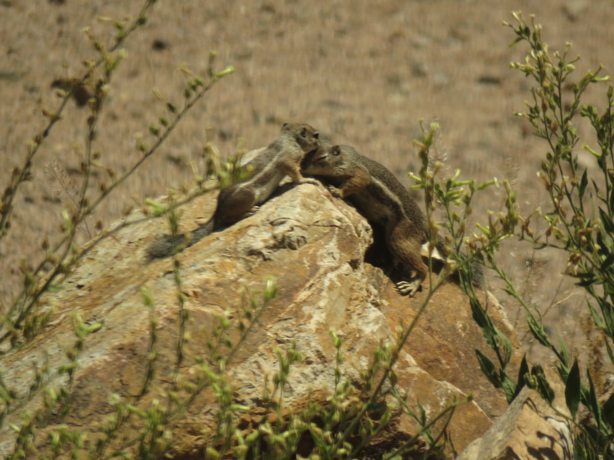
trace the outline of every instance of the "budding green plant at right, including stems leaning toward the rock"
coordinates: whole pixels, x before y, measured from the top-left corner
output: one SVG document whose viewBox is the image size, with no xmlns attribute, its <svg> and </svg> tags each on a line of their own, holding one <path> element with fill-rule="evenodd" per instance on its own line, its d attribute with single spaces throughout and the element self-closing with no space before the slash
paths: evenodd
<svg viewBox="0 0 614 460">
<path fill-rule="evenodd" d="M 597 71 L 588 71 L 579 80 L 572 82 L 570 75 L 575 71 L 579 57 L 569 58 L 571 45 L 565 45 L 562 53 L 550 53 L 548 45 L 542 40 L 542 27 L 530 17 L 530 23 L 523 15 L 514 12 L 516 25 L 509 26 L 516 37 L 512 45 L 526 43 L 529 46 L 524 63 L 510 64 L 512 69 L 523 72 L 534 86 L 530 93 L 531 101 L 525 102 L 527 112 L 518 112 L 535 129 L 535 134 L 548 146 L 546 158 L 538 173 L 548 194 L 548 209 L 537 209 L 528 216 L 518 211 L 516 194 L 506 183 L 507 215 L 499 213 L 489 216 L 488 226 L 480 226 L 481 235 L 469 242 L 472 253 L 482 261 L 484 266 L 493 270 L 503 281 L 505 292 L 517 299 L 524 308 L 527 325 L 535 340 L 547 347 L 556 357 L 556 368 L 565 383 L 565 399 L 571 417 L 569 423 L 576 427 L 574 434 L 575 458 L 609 458 L 614 455 L 612 443 L 614 428 L 614 395 L 606 399 L 597 398 L 591 369 L 586 367 L 586 379 L 577 358 L 570 356 L 570 350 L 562 340 L 554 344 L 542 324 L 542 315 L 537 308 L 530 307 L 515 288 L 512 278 L 497 263 L 495 250 L 497 244 L 484 246 L 483 242 L 494 243 L 496 240 L 514 236 L 529 240 L 535 248 L 550 247 L 564 251 L 567 255 L 566 274 L 577 278 L 577 285 L 585 289 L 586 309 L 593 319 L 593 328 L 602 332 L 605 350 L 610 363 L 614 364 L 612 343 L 614 341 L 614 88 L 608 86 L 605 107 L 602 110 L 594 105 L 583 104 L 583 94 L 591 85 L 609 82 L 610 77 L 599 77 L 602 67 Z M 596 159 L 599 174 L 591 177 L 589 168 L 582 168 L 578 163 L 578 129 L 576 119 L 587 118 L 593 127 L 594 142 L 598 147 L 588 143 L 581 147 Z M 453 183 L 458 186 L 459 182 Z M 448 223 L 446 226 L 454 241 L 455 223 L 464 230 L 464 218 L 450 212 L 442 191 L 448 190 L 448 183 L 435 187 L 437 197 L 446 209 Z M 473 187 L 470 186 L 471 193 Z M 587 193 L 589 192 L 590 193 Z M 460 201 L 467 201 L 471 193 L 460 191 Z M 534 232 L 530 221 L 543 219 L 546 230 Z M 462 231 L 459 232 L 462 235 Z M 464 258 L 459 251 L 454 256 L 459 262 Z M 466 266 L 461 266 L 463 277 L 468 274 Z M 548 383 L 542 366 L 529 367 L 526 358 L 521 363 L 518 380 L 515 382 L 507 372 L 510 345 L 507 337 L 492 325 L 486 309 L 472 294 L 471 286 L 462 283 L 470 296 L 473 316 L 484 332 L 486 342 L 497 353 L 499 362 L 494 364 L 486 356 L 476 351 L 481 369 L 491 383 L 502 388 L 511 401 L 524 385 L 537 389 L 542 397 L 552 402 L 553 390 Z M 580 418 L 583 407 L 588 416 Z M 559 413 L 564 416 L 564 414 Z"/>
</svg>

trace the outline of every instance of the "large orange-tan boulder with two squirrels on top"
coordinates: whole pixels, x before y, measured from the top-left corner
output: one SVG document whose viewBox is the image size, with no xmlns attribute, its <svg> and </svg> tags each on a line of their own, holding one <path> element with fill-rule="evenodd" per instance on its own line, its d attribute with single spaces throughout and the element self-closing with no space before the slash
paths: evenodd
<svg viewBox="0 0 614 460">
<path fill-rule="evenodd" d="M 182 229 L 195 228 L 211 216 L 214 192 L 204 194 L 182 210 Z M 130 219 L 142 217 L 138 213 Z M 85 323 L 102 322 L 103 328 L 87 337 L 79 355 L 79 368 L 72 383 L 72 403 L 66 417 L 53 415 L 51 423 L 66 423 L 69 429 L 87 432 L 87 442 L 101 437 L 101 426 L 114 412 L 112 394 L 137 407 L 148 407 L 154 398 L 164 404 L 171 385 L 179 334 L 179 307 L 172 259 L 146 259 L 147 246 L 166 232 L 163 219 L 136 224 L 108 237 L 91 250 L 79 267 L 47 294 L 42 311 L 55 308 L 51 323 L 33 342 L 1 357 L 2 378 L 18 396 L 28 393 L 35 369 L 52 364 L 49 386 L 66 385 L 66 375 L 55 370 L 67 362 L 65 350 L 76 342 L 71 315 L 79 313 Z M 194 379 L 196 359 L 209 357 L 208 340 L 220 315 L 230 312 L 237 320 L 243 286 L 259 289 L 273 275 L 279 296 L 262 313 L 246 339 L 229 361 L 231 381 L 238 402 L 251 408 L 242 416 L 246 430 L 262 419 L 265 375 L 278 372 L 274 349 L 286 350 L 295 342 L 303 361 L 290 370 L 284 389 L 287 408 L 304 407 L 308 401 L 327 403 L 334 386 L 335 354 L 329 329 L 343 339 L 344 378 L 360 381 L 360 372 L 373 360 L 373 351 L 383 341 L 394 341 L 397 327 L 409 324 L 428 284 L 413 298 L 402 297 L 389 277 L 378 267 L 365 263 L 372 231 L 354 208 L 333 199 L 321 186 L 282 186 L 254 216 L 222 232 L 216 232 L 185 250 L 181 261 L 181 291 L 185 296 L 187 353 L 180 373 L 183 381 Z M 155 299 L 158 351 L 152 390 L 139 397 L 147 370 L 150 313 L 139 291 L 147 288 Z M 489 309 L 497 327 L 513 336 L 497 305 Z M 238 332 L 231 326 L 231 336 Z M 514 342 L 516 343 L 516 342 Z M 492 356 L 473 322 L 470 307 L 453 282 L 446 283 L 433 297 L 418 326 L 400 352 L 395 369 L 398 385 L 435 416 L 451 401 L 473 394 L 475 399 L 460 405 L 449 424 L 457 450 L 484 434 L 492 417 L 507 404 L 480 372 L 474 348 Z M 224 350 L 222 348 L 222 350 Z M 226 353 L 223 351 L 223 353 Z M 47 357 L 47 358 L 46 358 Z M 517 362 L 517 356 L 514 358 Z M 216 397 L 205 388 L 190 410 L 177 421 L 172 451 L 182 458 L 200 458 L 207 432 L 216 426 Z M 21 425 L 18 412 L 42 410 L 41 396 L 4 420 L 0 453 L 12 451 L 15 432 L 8 423 Z M 141 419 L 136 416 L 122 427 L 112 447 L 128 452 Z M 47 428 L 49 429 L 49 428 Z M 395 417 L 389 432 L 407 439 L 418 425 L 408 416 Z M 49 440 L 40 434 L 33 451 L 49 450 Z"/>
</svg>

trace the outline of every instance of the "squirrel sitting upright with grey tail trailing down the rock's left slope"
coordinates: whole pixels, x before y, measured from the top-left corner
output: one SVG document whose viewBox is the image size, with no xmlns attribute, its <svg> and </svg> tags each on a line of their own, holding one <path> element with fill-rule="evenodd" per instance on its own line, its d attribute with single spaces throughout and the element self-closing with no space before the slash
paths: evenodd
<svg viewBox="0 0 614 460">
<path fill-rule="evenodd" d="M 251 177 L 220 191 L 213 217 L 195 229 L 190 239 L 185 234 L 174 239 L 171 235 L 161 237 L 147 248 L 147 256 L 150 259 L 171 256 L 177 246 L 184 243 L 192 246 L 211 232 L 253 215 L 257 205 L 271 196 L 286 175 L 296 183 L 317 184 L 317 180 L 303 177 L 300 164 L 303 156 L 317 149 L 318 137 L 316 129 L 306 123 L 284 123 L 279 136 L 245 165 L 252 171 Z"/>
</svg>

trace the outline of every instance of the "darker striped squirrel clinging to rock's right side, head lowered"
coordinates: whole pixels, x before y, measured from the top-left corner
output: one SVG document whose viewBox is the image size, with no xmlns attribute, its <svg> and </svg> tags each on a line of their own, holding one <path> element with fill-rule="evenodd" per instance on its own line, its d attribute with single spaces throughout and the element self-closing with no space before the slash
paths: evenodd
<svg viewBox="0 0 614 460">
<path fill-rule="evenodd" d="M 411 281 L 396 283 L 400 294 L 412 297 L 427 277 L 422 247 L 429 241 L 421 209 L 406 188 L 386 167 L 360 155 L 349 145 L 333 145 L 324 140 L 303 161 L 303 173 L 324 178 L 335 197 L 349 198 L 371 224 L 384 228 L 386 245 L 403 265 L 414 270 Z M 443 240 L 433 257 L 445 254 Z M 478 275 L 479 277 L 479 275 Z M 479 282 L 476 279 L 476 282 Z"/>
</svg>

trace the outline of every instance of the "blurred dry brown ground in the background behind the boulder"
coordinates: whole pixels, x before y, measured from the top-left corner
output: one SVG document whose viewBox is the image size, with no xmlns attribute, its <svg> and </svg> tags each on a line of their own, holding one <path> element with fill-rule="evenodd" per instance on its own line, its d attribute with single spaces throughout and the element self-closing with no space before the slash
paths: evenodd
<svg viewBox="0 0 614 460">
<path fill-rule="evenodd" d="M 45 125 L 42 110 L 53 111 L 60 102 L 52 82 L 79 75 L 82 61 L 96 56 L 84 27 L 109 39 L 112 26 L 97 18 L 122 19 L 140 7 L 137 0 L 0 0 L 3 190 L 12 167 L 23 163 L 26 142 Z M 610 0 L 158 2 L 147 24 L 126 42 L 128 57 L 111 83 L 95 144 L 104 164 L 122 172 L 139 158 L 135 133 L 150 139 L 148 126 L 165 113 L 152 88 L 181 101 L 182 63 L 203 74 L 209 51 L 217 50 L 220 68 L 231 64 L 236 73 L 216 85 L 157 156 L 100 207 L 81 241 L 95 232 L 97 220 L 106 226 L 119 218 L 134 204 L 131 196 L 155 197 L 190 182 L 189 164 L 202 169 L 208 136 L 230 154 L 241 139 L 246 148 L 267 144 L 286 120 L 307 121 L 323 137 L 354 145 L 406 185 L 406 172 L 418 167 L 412 146 L 418 121 L 437 120 L 438 155 L 450 170 L 461 168 L 464 177 L 478 180 L 509 178 L 523 209 L 533 209 L 543 199 L 535 172 L 545 145 L 513 116 L 529 98 L 529 81 L 508 69 L 526 49 L 508 47 L 513 34 L 502 26 L 517 9 L 537 15 L 552 50 L 573 42 L 572 53 L 582 56 L 578 78 L 599 64 L 614 72 Z M 588 101 L 598 96 L 590 93 Z M 18 193 L 12 231 L 0 240 L 4 305 L 20 286 L 20 259 L 37 262 L 42 241 L 58 237 L 61 211 L 76 196 L 85 118 L 87 108 L 71 102 L 35 158 L 34 179 Z M 587 126 L 580 124 L 581 136 L 588 136 Z M 594 167 L 591 158 L 580 156 L 583 165 Z M 101 173 L 96 180 L 107 179 Z M 91 193 L 98 186 L 91 184 Z M 476 220 L 501 206 L 502 195 L 480 197 Z M 531 302 L 550 306 L 546 320 L 579 340 L 575 307 L 581 297 L 570 283 L 561 283 L 564 259 L 514 242 L 503 247 L 502 259 Z M 517 305 L 506 306 L 515 320 Z"/>
</svg>

